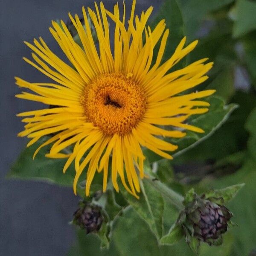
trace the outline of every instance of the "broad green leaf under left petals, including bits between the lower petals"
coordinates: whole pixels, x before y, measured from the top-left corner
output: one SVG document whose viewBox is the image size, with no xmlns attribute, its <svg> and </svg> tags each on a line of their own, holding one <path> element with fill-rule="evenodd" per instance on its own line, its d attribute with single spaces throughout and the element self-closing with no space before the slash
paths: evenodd
<svg viewBox="0 0 256 256">
<path fill-rule="evenodd" d="M 32 146 L 25 148 L 11 167 L 11 171 L 7 174 L 7 177 L 26 180 L 42 180 L 48 183 L 55 183 L 60 186 L 73 187 L 73 180 L 76 175 L 74 165 L 71 164 L 64 174 L 62 170 L 67 161 L 66 158 L 53 159 L 45 157 L 45 154 L 49 153 L 51 145 L 41 148 L 33 160 L 35 150 L 48 139 L 49 137 L 45 136 Z M 87 168 L 85 168 L 84 173 L 86 173 L 86 171 Z M 81 198 L 85 197 L 84 177 L 85 175 L 81 175 L 77 186 L 77 192 Z M 96 173 L 90 187 L 90 196 L 92 196 L 96 191 L 102 190 L 102 180 L 103 174 Z"/>
</svg>

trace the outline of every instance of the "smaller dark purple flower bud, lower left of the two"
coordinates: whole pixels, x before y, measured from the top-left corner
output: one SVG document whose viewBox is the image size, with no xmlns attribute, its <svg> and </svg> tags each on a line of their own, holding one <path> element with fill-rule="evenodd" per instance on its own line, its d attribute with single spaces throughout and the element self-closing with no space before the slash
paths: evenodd
<svg viewBox="0 0 256 256">
<path fill-rule="evenodd" d="M 73 223 L 80 228 L 86 229 L 87 234 L 98 231 L 103 222 L 100 207 L 93 204 L 86 204 L 79 208 L 73 215 Z"/>
</svg>

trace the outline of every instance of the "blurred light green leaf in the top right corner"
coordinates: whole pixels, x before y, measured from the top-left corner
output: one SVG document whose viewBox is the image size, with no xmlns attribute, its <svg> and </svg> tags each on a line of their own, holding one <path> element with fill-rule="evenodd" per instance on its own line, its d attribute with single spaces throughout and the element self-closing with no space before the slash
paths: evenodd
<svg viewBox="0 0 256 256">
<path fill-rule="evenodd" d="M 256 29 L 256 3 L 248 0 L 238 0 L 236 5 L 236 20 L 233 29 L 235 38 Z"/>
</svg>

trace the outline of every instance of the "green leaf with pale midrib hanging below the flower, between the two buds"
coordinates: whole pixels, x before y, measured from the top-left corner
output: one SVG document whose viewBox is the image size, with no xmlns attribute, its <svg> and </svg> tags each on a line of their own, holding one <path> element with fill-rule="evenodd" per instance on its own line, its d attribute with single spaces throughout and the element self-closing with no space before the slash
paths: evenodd
<svg viewBox="0 0 256 256">
<path fill-rule="evenodd" d="M 146 182 L 141 181 L 140 187 L 141 193 L 139 195 L 139 200 L 133 195 L 130 195 L 123 188 L 123 186 L 120 186 L 120 190 L 128 203 L 148 224 L 157 239 L 160 239 L 163 233 L 163 197 L 150 184 Z"/>
</svg>

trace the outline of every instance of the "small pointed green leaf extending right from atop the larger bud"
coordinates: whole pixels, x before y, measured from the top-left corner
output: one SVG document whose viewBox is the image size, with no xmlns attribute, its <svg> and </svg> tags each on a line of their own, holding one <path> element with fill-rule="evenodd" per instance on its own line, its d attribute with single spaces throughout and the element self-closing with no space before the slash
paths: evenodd
<svg viewBox="0 0 256 256">
<path fill-rule="evenodd" d="M 216 189 L 210 192 L 204 193 L 205 198 L 221 198 L 223 199 L 223 204 L 227 204 L 231 199 L 233 199 L 239 190 L 244 186 L 244 183 L 228 186 L 224 189 Z"/>
</svg>

